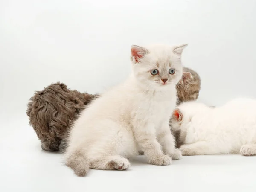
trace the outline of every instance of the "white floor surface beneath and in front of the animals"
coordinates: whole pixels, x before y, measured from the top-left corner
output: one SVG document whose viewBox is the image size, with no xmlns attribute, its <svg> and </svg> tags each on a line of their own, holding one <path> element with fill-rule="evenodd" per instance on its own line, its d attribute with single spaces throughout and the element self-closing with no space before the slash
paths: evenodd
<svg viewBox="0 0 256 192">
<path fill-rule="evenodd" d="M 41 150 L 27 119 L 0 126 L 0 192 L 256 191 L 256 157 L 192 156 L 154 166 L 138 156 L 127 171 L 91 169 L 76 177 L 61 163 L 61 154 Z"/>
</svg>

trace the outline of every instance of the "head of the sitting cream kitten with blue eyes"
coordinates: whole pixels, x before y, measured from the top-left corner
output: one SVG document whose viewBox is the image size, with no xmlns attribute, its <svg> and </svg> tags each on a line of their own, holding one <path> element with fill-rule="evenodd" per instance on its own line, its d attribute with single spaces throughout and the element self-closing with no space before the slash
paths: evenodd
<svg viewBox="0 0 256 192">
<path fill-rule="evenodd" d="M 148 48 L 133 45 L 131 59 L 133 73 L 145 89 L 165 89 L 175 86 L 182 77 L 181 54 L 187 44 Z"/>
</svg>

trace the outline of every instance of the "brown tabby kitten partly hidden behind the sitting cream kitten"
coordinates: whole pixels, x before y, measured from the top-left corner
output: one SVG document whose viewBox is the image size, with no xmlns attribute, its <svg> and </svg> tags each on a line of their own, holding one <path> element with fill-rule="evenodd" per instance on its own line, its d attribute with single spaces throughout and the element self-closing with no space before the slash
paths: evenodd
<svg viewBox="0 0 256 192">
<path fill-rule="evenodd" d="M 176 85 L 177 89 L 177 105 L 182 102 L 188 102 L 198 99 L 201 89 L 201 79 L 198 73 L 187 67 L 183 67 L 183 72 L 188 72 L 191 76 L 185 76 Z"/>
</svg>

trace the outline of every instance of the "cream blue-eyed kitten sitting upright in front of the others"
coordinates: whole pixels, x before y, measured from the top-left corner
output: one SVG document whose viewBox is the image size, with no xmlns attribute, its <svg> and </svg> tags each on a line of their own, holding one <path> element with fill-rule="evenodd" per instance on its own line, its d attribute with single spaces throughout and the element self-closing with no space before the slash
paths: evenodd
<svg viewBox="0 0 256 192">
<path fill-rule="evenodd" d="M 169 118 L 185 47 L 131 47 L 131 76 L 94 100 L 70 131 L 65 164 L 76 175 L 84 176 L 89 168 L 128 169 L 128 158 L 139 150 L 154 165 L 180 158 Z"/>
</svg>

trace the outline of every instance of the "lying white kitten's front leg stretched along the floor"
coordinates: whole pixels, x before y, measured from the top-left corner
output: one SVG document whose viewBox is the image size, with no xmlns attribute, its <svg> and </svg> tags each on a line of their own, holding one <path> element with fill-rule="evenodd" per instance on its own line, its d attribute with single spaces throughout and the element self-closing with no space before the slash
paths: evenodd
<svg viewBox="0 0 256 192">
<path fill-rule="evenodd" d="M 210 143 L 206 141 L 197 141 L 192 144 L 181 145 L 180 151 L 182 155 L 207 155 L 207 154 L 220 154 Z"/>
</svg>

